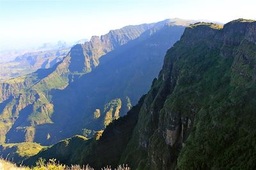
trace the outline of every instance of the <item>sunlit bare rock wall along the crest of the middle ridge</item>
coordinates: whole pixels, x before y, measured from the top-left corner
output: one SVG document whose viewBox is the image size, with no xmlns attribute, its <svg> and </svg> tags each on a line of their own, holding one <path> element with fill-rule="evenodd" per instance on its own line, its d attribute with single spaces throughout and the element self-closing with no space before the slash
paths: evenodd
<svg viewBox="0 0 256 170">
<path fill-rule="evenodd" d="M 80 71 L 92 71 L 92 68 L 99 65 L 99 58 L 106 53 L 125 45 L 132 39 L 138 38 L 143 32 L 154 27 L 155 24 L 130 25 L 118 30 L 109 31 L 103 36 L 92 36 L 92 39 L 83 45 L 76 45 L 71 51 L 71 63 L 77 68 L 76 64 L 81 64 Z M 81 55 L 81 57 L 79 57 Z M 76 57 L 72 57 L 76 56 Z M 76 63 L 77 61 L 77 63 Z"/>
</svg>

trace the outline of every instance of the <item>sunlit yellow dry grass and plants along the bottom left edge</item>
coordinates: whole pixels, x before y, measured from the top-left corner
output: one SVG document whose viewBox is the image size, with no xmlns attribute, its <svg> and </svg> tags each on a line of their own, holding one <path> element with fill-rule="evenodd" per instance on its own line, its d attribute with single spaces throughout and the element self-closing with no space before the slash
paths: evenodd
<svg viewBox="0 0 256 170">
<path fill-rule="evenodd" d="M 35 167 L 24 167 L 24 166 L 16 166 L 12 164 L 12 162 L 8 162 L 7 160 L 0 159 L 0 169 L 1 170 L 93 170 L 89 165 L 79 166 L 72 165 L 70 167 L 65 166 L 63 164 L 59 164 L 56 162 L 56 159 L 50 159 L 48 163 L 45 163 L 45 160 L 40 159 L 36 163 Z M 131 170 L 127 165 L 118 166 L 115 168 L 116 170 Z M 110 166 L 103 167 L 102 170 L 111 170 Z"/>
</svg>

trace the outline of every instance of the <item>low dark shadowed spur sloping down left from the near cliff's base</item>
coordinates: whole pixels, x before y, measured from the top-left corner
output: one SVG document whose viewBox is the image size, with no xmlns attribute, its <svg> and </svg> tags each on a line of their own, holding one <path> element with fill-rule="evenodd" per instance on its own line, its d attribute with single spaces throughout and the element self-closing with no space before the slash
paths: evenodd
<svg viewBox="0 0 256 170">
<path fill-rule="evenodd" d="M 120 117 L 118 120 L 113 121 L 104 131 L 96 132 L 93 138 L 87 139 L 83 136 L 74 136 L 65 139 L 24 160 L 23 164 L 33 166 L 40 158 L 49 160 L 54 157 L 66 165 L 89 164 L 95 169 L 108 165 L 118 167 L 118 160 L 122 150 L 131 139 L 132 130 L 138 120 L 138 111 L 142 103 L 143 97 L 140 99 L 139 104 L 134 106 L 125 117 Z M 104 136 L 102 136 L 103 133 Z M 120 134 L 124 136 L 120 136 Z"/>
</svg>

